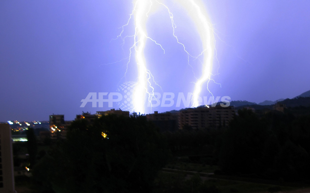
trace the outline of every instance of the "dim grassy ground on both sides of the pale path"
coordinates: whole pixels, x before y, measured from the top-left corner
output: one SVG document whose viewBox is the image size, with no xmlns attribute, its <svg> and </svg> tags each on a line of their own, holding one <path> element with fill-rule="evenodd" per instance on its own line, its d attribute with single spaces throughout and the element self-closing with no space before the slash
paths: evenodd
<svg viewBox="0 0 310 193">
<path fill-rule="evenodd" d="M 206 165 L 206 164 L 197 164 L 197 163 L 189 163 L 183 161 L 175 161 L 167 164 L 165 166 L 167 169 L 176 169 L 183 171 L 192 171 L 199 173 L 213 173 L 215 170 L 219 169 L 216 165 Z M 243 182 L 232 179 L 215 179 L 210 178 L 208 175 L 201 174 L 200 176 L 204 176 L 207 178 L 200 178 L 199 174 L 192 174 L 189 172 L 181 172 L 181 171 L 171 171 L 164 170 L 159 173 L 158 178 L 155 180 L 155 184 L 157 185 L 157 191 L 155 192 L 191 192 L 195 189 L 202 190 L 206 189 L 206 192 L 221 192 L 221 193 L 231 193 L 231 192 L 277 192 L 277 191 L 290 191 L 296 188 L 288 187 L 288 186 L 277 186 L 273 184 L 264 184 L 257 182 Z M 172 173 L 171 173 L 172 172 Z M 188 175 L 189 174 L 189 175 Z M 196 179 L 195 179 L 196 178 Z M 201 180 L 201 181 L 200 181 Z M 199 182 L 200 181 L 200 182 Z M 191 186 L 189 189 L 186 186 Z M 214 187 L 215 189 L 210 189 Z M 209 188 L 209 189 L 208 189 Z M 198 192 L 198 191 L 197 191 Z"/>
</svg>

